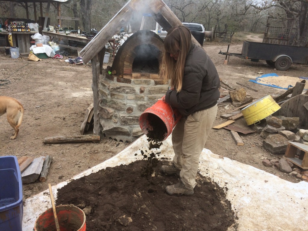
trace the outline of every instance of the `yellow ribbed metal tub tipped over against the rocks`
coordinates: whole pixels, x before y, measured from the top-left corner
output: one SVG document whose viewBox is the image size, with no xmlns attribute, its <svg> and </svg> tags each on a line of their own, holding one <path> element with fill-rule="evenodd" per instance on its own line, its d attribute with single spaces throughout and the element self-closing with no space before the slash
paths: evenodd
<svg viewBox="0 0 308 231">
<path fill-rule="evenodd" d="M 266 95 L 261 99 L 244 107 L 241 112 L 246 120 L 247 125 L 257 124 L 260 120 L 263 120 L 269 115 L 272 115 L 275 111 L 278 111 L 280 106 L 270 96 Z"/>
</svg>

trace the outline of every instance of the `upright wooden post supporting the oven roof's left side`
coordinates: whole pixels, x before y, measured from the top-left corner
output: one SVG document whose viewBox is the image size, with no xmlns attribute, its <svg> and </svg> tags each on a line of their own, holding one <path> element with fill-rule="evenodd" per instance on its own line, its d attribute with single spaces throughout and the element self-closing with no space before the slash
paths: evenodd
<svg viewBox="0 0 308 231">
<path fill-rule="evenodd" d="M 97 55 L 91 59 L 92 66 L 92 91 L 93 91 L 93 118 L 94 128 L 93 133 L 100 136 L 103 133 L 102 125 L 99 122 L 99 75 L 101 74 L 104 55 L 106 48 L 103 47 Z"/>
</svg>

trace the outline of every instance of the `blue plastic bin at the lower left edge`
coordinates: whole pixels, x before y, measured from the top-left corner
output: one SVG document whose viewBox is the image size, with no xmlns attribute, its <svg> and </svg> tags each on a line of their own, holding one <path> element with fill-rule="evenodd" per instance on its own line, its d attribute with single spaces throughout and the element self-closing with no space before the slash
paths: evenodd
<svg viewBox="0 0 308 231">
<path fill-rule="evenodd" d="M 0 230 L 22 231 L 22 181 L 16 156 L 0 156 Z"/>
</svg>

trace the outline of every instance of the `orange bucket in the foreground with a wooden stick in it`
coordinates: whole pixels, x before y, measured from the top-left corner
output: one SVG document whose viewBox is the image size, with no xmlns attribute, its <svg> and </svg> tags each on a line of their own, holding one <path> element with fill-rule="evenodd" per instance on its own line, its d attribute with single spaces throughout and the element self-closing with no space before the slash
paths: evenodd
<svg viewBox="0 0 308 231">
<path fill-rule="evenodd" d="M 56 206 L 61 231 L 86 231 L 86 215 L 75 205 Z M 55 217 L 52 208 L 39 215 L 34 231 L 55 231 Z"/>
</svg>

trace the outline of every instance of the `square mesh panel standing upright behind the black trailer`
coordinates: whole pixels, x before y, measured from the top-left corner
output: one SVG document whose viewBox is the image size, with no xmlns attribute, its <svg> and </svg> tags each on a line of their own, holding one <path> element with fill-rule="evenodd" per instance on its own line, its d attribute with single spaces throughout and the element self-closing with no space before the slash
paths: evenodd
<svg viewBox="0 0 308 231">
<path fill-rule="evenodd" d="M 293 22 L 293 18 L 268 17 L 262 42 L 289 45 Z"/>
</svg>

